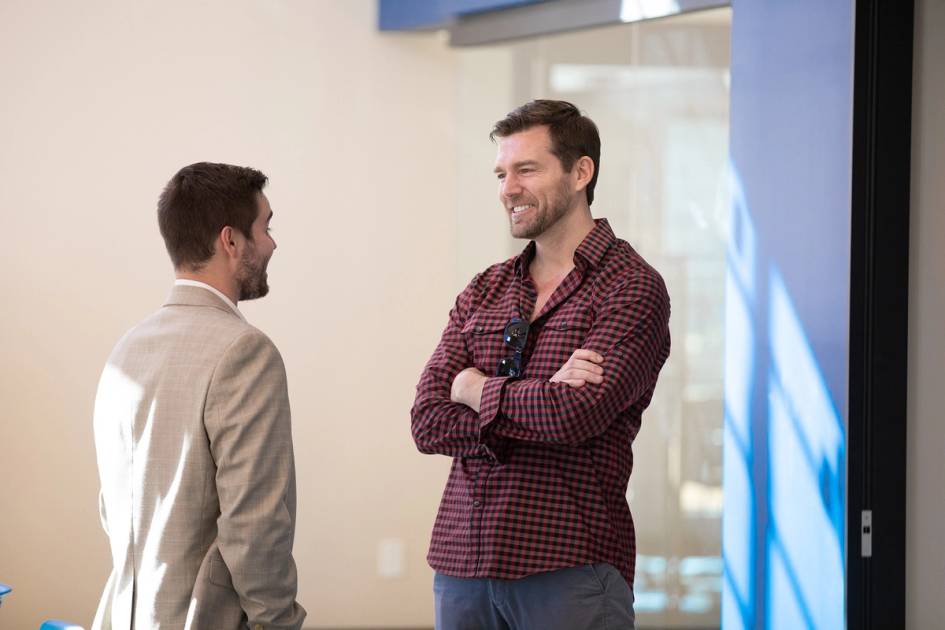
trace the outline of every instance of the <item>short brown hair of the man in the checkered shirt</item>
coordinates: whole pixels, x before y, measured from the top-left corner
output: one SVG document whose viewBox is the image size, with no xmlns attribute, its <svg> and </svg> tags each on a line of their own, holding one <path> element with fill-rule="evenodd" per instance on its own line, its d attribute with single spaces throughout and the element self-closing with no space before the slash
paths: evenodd
<svg viewBox="0 0 945 630">
<path fill-rule="evenodd" d="M 505 138 L 532 127 L 547 125 L 551 135 L 551 152 L 570 172 L 574 163 L 588 156 L 594 162 L 594 175 L 588 183 L 587 204 L 594 202 L 594 186 L 600 172 L 600 134 L 594 121 L 567 101 L 535 100 L 515 109 L 492 128 L 489 139 Z"/>
</svg>

